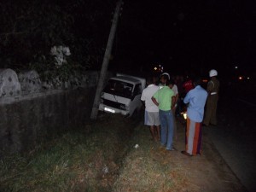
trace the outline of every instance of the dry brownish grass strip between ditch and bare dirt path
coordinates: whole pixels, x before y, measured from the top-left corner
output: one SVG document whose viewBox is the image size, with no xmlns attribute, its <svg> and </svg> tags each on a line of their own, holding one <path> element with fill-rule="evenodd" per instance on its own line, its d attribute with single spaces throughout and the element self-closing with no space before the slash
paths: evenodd
<svg viewBox="0 0 256 192">
<path fill-rule="evenodd" d="M 138 144 L 126 155 L 113 191 L 183 191 L 187 180 L 185 170 L 177 161 L 176 152 L 167 152 L 150 139 L 148 128 L 136 128 L 131 143 Z M 184 174 L 181 174 L 183 172 Z"/>
</svg>

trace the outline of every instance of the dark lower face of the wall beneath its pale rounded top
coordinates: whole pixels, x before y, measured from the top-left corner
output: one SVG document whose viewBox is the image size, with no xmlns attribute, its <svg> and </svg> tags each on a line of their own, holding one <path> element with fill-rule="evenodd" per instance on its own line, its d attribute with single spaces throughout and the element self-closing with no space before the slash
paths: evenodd
<svg viewBox="0 0 256 192">
<path fill-rule="evenodd" d="M 49 91 L 0 108 L 0 146 L 5 152 L 24 151 L 54 134 L 84 125 L 95 89 Z"/>
</svg>

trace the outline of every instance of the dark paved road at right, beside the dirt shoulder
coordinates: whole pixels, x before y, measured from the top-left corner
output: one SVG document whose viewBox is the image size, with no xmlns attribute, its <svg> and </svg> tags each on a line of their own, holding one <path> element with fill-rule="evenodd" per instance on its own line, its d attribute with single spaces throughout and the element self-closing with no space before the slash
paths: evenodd
<svg viewBox="0 0 256 192">
<path fill-rule="evenodd" d="M 243 98 L 219 103 L 218 126 L 204 128 L 231 170 L 250 192 L 256 191 L 256 105 Z"/>
</svg>

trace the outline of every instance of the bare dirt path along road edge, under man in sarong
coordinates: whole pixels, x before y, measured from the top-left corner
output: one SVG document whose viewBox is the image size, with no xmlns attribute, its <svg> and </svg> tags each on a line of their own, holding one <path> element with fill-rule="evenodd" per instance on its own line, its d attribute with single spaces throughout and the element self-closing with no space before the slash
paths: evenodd
<svg viewBox="0 0 256 192">
<path fill-rule="evenodd" d="M 230 170 L 217 148 L 203 131 L 201 156 L 188 157 L 180 153 L 185 148 L 184 126 L 178 125 L 177 160 L 188 170 L 189 191 L 247 191 Z M 203 129 L 211 129 L 209 127 Z"/>
</svg>

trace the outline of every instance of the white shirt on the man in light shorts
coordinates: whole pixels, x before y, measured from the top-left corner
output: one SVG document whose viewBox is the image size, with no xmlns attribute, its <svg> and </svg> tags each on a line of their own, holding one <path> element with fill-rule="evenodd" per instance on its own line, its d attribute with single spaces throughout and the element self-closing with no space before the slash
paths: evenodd
<svg viewBox="0 0 256 192">
<path fill-rule="evenodd" d="M 148 87 L 143 90 L 141 100 L 145 102 L 145 110 L 148 112 L 159 112 L 159 108 L 151 100 L 151 97 L 157 90 L 160 90 L 160 87 L 154 84 L 149 84 Z"/>
</svg>

